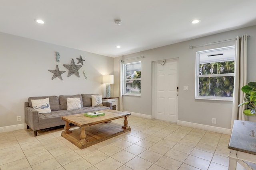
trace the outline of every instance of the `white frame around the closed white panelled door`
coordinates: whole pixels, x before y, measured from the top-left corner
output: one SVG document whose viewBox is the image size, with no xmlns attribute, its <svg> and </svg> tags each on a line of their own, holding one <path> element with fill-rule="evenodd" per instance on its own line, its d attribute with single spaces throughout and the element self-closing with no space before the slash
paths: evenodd
<svg viewBox="0 0 256 170">
<path fill-rule="evenodd" d="M 155 119 L 155 104 L 156 104 L 156 90 L 155 90 L 155 64 L 158 62 L 163 62 L 163 61 L 177 61 L 177 87 L 179 86 L 179 58 L 174 58 L 174 59 L 165 59 L 165 60 L 158 60 L 158 61 L 152 61 L 152 118 Z M 179 88 L 180 91 L 180 88 Z M 179 94 L 179 93 L 178 93 Z M 177 101 L 176 101 L 176 122 L 178 121 L 178 103 L 179 103 L 179 96 L 177 96 Z"/>
</svg>

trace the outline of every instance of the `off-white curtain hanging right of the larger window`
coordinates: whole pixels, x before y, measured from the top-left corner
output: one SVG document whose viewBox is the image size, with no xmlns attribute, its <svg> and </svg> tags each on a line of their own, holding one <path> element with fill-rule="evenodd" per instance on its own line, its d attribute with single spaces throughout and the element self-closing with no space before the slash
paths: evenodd
<svg viewBox="0 0 256 170">
<path fill-rule="evenodd" d="M 240 43 L 241 42 L 241 43 Z M 239 36 L 236 37 L 236 56 L 235 56 L 235 78 L 234 78 L 234 93 L 233 106 L 231 117 L 231 129 L 234 120 L 247 121 L 248 116 L 244 115 L 243 111 L 246 105 L 238 107 L 244 102 L 245 93 L 241 91 L 242 86 L 247 84 L 247 35 L 242 35 L 241 41 Z"/>
</svg>

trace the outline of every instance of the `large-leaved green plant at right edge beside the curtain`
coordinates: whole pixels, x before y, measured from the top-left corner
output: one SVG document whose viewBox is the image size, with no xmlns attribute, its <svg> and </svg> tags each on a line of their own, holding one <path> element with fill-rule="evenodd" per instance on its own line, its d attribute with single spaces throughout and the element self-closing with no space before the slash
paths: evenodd
<svg viewBox="0 0 256 170">
<path fill-rule="evenodd" d="M 256 115 L 256 82 L 249 82 L 241 88 L 242 92 L 246 94 L 244 103 L 238 105 L 242 106 L 248 104 L 249 108 L 244 110 L 244 114 L 248 116 Z"/>
</svg>

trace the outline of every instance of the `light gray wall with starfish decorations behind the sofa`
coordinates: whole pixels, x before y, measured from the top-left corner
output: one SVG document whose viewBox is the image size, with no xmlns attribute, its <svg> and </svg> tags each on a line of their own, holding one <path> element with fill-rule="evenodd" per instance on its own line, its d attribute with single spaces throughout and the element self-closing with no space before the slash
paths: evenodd
<svg viewBox="0 0 256 170">
<path fill-rule="evenodd" d="M 55 52 L 60 53 L 60 62 L 56 62 Z M 76 65 L 82 59 L 80 78 L 68 77 L 68 70 L 62 64 Z M 103 74 L 113 74 L 114 59 L 76 49 L 62 47 L 0 33 L 0 127 L 24 123 L 24 102 L 30 96 L 73 95 L 99 93 L 106 96 L 106 85 L 102 84 Z M 58 64 L 66 71 L 60 80 L 52 79 Z M 84 78 L 84 70 L 88 79 Z M 113 90 L 112 90 L 113 91 Z M 22 121 L 16 121 L 21 115 Z"/>
</svg>

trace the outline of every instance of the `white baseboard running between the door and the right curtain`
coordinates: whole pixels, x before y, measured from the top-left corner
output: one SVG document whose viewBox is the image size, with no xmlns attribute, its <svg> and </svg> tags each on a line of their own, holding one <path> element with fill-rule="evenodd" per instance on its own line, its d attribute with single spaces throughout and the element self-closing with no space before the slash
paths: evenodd
<svg viewBox="0 0 256 170">
<path fill-rule="evenodd" d="M 193 128 L 196 128 L 196 129 L 202 129 L 202 130 L 206 130 L 206 131 L 223 133 L 223 134 L 227 134 L 227 135 L 231 134 L 231 129 L 226 129 L 226 128 L 222 128 L 222 127 L 202 125 L 202 124 L 198 124 L 198 123 L 191 123 L 191 122 L 188 122 L 188 121 L 180 121 L 180 120 L 177 121 L 177 124 L 182 125 L 182 126 L 193 127 Z"/>
</svg>

